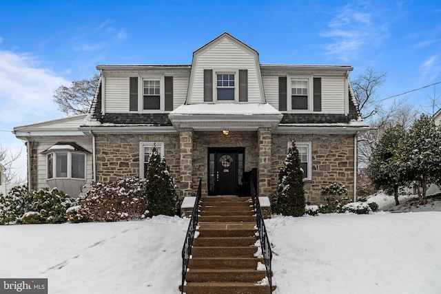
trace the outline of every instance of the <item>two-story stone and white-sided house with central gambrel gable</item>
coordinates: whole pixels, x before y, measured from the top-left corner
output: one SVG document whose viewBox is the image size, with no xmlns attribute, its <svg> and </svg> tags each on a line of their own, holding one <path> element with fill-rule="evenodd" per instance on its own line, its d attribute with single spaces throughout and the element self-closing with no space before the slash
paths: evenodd
<svg viewBox="0 0 441 294">
<path fill-rule="evenodd" d="M 238 195 L 256 168 L 260 196 L 276 189 L 292 140 L 300 151 L 307 202 L 341 182 L 354 195 L 361 120 L 349 65 L 262 64 L 258 52 L 224 33 L 193 53 L 191 65 L 98 65 L 89 114 L 16 127 L 27 141 L 30 187 L 79 187 L 143 178 L 152 148 L 170 166 L 181 198 Z"/>
</svg>

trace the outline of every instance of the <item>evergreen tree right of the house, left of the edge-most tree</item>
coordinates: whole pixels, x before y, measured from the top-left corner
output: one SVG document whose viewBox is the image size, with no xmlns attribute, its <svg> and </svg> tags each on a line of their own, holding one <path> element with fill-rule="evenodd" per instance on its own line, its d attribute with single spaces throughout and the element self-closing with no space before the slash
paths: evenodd
<svg viewBox="0 0 441 294">
<path fill-rule="evenodd" d="M 399 173 L 398 161 L 399 146 L 406 138 L 406 131 L 402 125 L 387 129 L 378 141 L 372 152 L 368 167 L 368 176 L 376 189 L 383 189 L 387 195 L 393 195 L 398 205 L 398 189 L 406 185 L 406 180 Z"/>
</svg>

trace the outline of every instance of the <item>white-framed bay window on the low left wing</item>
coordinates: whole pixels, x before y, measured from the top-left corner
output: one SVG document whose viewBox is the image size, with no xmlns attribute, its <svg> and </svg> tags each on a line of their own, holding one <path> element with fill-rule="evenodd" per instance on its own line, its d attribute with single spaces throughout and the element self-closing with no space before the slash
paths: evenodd
<svg viewBox="0 0 441 294">
<path fill-rule="evenodd" d="M 70 151 L 52 152 L 48 158 L 48 179 L 85 178 L 85 154 Z"/>
</svg>

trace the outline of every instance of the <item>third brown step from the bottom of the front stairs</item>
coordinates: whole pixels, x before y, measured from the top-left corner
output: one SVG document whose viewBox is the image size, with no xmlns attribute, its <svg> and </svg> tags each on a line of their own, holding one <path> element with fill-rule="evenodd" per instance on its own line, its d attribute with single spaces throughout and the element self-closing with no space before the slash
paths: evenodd
<svg viewBox="0 0 441 294">
<path fill-rule="evenodd" d="M 189 269 L 257 269 L 263 258 L 192 258 Z"/>
</svg>

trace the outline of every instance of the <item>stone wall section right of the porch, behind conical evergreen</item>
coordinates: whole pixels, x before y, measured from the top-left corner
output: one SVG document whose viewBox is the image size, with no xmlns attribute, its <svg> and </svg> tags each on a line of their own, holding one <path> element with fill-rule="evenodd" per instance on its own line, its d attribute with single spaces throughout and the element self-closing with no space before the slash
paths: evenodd
<svg viewBox="0 0 441 294">
<path fill-rule="evenodd" d="M 278 182 L 278 171 L 283 167 L 287 154 L 287 143 L 311 142 L 312 174 L 311 180 L 305 181 L 307 202 L 316 204 L 325 202 L 321 188 L 332 182 L 340 182 L 347 187 L 348 196 L 353 196 L 353 135 L 288 135 L 273 134 L 272 148 L 272 185 Z"/>
</svg>

